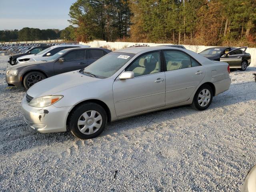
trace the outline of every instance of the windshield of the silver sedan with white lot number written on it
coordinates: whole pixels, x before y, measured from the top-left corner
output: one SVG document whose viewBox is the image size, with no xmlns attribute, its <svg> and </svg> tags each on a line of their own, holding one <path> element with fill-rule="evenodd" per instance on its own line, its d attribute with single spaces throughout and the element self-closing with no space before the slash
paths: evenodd
<svg viewBox="0 0 256 192">
<path fill-rule="evenodd" d="M 84 73 L 93 74 L 97 78 L 108 78 L 114 75 L 134 55 L 131 53 L 110 52 L 86 67 Z"/>
</svg>

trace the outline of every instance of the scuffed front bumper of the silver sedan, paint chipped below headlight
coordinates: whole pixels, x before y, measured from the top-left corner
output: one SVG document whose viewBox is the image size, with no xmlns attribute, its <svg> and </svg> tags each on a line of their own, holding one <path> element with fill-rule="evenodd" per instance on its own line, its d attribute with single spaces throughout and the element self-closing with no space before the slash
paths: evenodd
<svg viewBox="0 0 256 192">
<path fill-rule="evenodd" d="M 66 131 L 66 120 L 72 106 L 55 107 L 54 105 L 38 108 L 28 105 L 26 96 L 22 99 L 22 114 L 30 128 L 41 133 Z"/>
</svg>

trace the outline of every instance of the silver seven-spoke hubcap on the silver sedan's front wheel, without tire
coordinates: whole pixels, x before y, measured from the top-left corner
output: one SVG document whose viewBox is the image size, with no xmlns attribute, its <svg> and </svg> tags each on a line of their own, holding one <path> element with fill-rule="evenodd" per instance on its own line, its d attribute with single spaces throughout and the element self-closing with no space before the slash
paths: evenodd
<svg viewBox="0 0 256 192">
<path fill-rule="evenodd" d="M 102 116 L 95 110 L 84 112 L 77 122 L 80 132 L 86 135 L 94 134 L 102 125 Z"/>
</svg>

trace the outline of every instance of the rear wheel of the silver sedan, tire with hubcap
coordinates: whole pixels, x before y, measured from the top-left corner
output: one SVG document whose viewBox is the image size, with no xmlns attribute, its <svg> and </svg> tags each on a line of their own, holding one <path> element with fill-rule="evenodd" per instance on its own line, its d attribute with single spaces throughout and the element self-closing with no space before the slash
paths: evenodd
<svg viewBox="0 0 256 192">
<path fill-rule="evenodd" d="M 204 84 L 196 91 L 192 102 L 192 107 L 196 110 L 206 110 L 212 103 L 212 88 Z"/>
</svg>

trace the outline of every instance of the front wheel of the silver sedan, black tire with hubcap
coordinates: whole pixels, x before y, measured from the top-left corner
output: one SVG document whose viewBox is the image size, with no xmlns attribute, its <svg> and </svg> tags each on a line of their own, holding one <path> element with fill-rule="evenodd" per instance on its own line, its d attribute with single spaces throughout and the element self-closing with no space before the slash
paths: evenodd
<svg viewBox="0 0 256 192">
<path fill-rule="evenodd" d="M 84 103 L 78 106 L 67 126 L 70 132 L 80 139 L 92 139 L 102 133 L 107 124 L 107 114 L 104 108 L 96 103 Z"/>
</svg>

